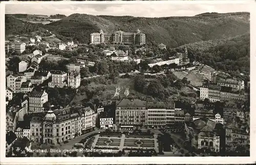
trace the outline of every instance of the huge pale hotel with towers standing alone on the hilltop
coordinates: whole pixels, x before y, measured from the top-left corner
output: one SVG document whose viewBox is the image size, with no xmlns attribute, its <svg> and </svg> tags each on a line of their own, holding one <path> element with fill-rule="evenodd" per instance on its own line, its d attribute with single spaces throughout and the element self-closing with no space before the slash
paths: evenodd
<svg viewBox="0 0 256 165">
<path fill-rule="evenodd" d="M 139 44 L 146 43 L 146 36 L 138 29 L 136 32 L 116 31 L 114 33 L 104 33 L 102 30 L 99 33 L 91 34 L 91 43 L 114 43 L 114 44 Z"/>
</svg>

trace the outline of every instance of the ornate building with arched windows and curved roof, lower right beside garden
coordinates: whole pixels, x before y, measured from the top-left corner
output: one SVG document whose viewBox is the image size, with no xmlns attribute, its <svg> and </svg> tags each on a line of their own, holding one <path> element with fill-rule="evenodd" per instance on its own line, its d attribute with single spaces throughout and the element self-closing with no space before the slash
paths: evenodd
<svg viewBox="0 0 256 165">
<path fill-rule="evenodd" d="M 222 124 L 207 118 L 200 118 L 193 122 L 185 122 L 187 142 L 195 149 L 209 149 L 220 152 L 220 133 Z"/>
</svg>

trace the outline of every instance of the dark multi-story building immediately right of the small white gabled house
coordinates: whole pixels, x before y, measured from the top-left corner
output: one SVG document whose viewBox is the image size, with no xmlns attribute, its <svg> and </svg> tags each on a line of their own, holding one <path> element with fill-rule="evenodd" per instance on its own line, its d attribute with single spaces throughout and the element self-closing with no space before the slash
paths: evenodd
<svg viewBox="0 0 256 165">
<path fill-rule="evenodd" d="M 227 120 L 231 116 L 235 116 L 237 114 L 237 111 L 239 110 L 237 103 L 233 101 L 226 102 L 223 107 L 223 118 L 224 122 L 223 125 L 225 126 L 227 123 Z"/>
</svg>

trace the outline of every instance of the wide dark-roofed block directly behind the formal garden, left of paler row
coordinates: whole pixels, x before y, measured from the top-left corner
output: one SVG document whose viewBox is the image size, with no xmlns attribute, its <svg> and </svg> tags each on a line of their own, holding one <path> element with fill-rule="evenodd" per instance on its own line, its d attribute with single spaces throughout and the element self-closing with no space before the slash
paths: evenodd
<svg viewBox="0 0 256 165">
<path fill-rule="evenodd" d="M 141 100 L 123 99 L 116 107 L 117 129 L 134 129 L 147 127 L 146 103 Z"/>
</svg>

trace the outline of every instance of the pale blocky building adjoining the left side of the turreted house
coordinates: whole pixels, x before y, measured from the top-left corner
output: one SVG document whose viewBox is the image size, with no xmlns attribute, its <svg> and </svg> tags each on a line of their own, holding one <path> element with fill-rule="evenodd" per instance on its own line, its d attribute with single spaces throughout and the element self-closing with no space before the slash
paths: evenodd
<svg viewBox="0 0 256 165">
<path fill-rule="evenodd" d="M 50 88 L 54 88 L 55 86 L 62 88 L 64 86 L 68 86 L 67 83 L 67 73 L 62 72 L 60 70 L 52 70 L 52 81 L 48 83 Z"/>
</svg>

